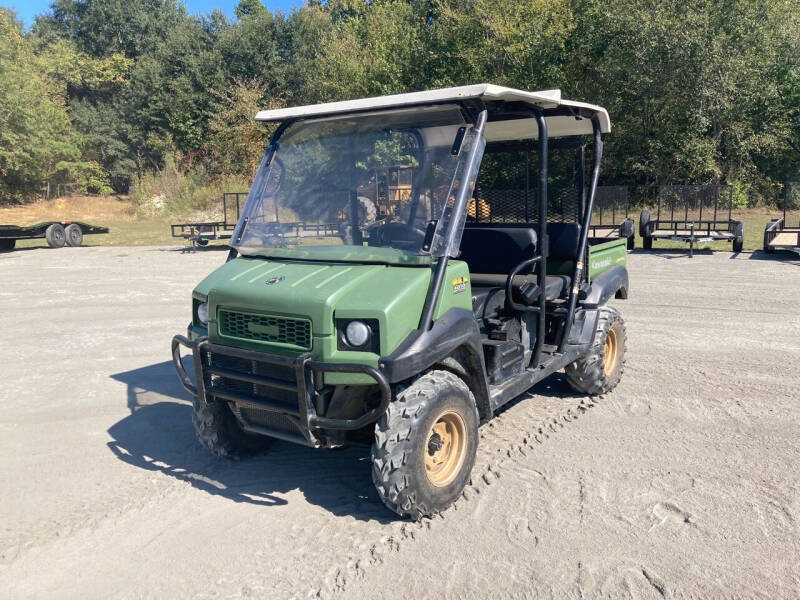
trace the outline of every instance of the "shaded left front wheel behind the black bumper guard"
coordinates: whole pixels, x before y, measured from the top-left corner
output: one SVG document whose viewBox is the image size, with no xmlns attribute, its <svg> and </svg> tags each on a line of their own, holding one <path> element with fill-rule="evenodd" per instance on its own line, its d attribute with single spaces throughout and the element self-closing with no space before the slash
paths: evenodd
<svg viewBox="0 0 800 600">
<path fill-rule="evenodd" d="M 193 401 L 192 423 L 197 439 L 213 454 L 237 459 L 264 450 L 272 438 L 244 431 L 227 402 Z"/>
</svg>

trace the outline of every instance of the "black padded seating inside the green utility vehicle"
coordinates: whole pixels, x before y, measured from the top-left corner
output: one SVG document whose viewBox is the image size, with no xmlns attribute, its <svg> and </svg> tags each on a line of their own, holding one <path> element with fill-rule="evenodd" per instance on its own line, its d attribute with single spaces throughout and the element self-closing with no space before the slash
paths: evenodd
<svg viewBox="0 0 800 600">
<path fill-rule="evenodd" d="M 496 314 L 505 303 L 505 282 L 508 274 L 519 263 L 536 254 L 538 239 L 535 225 L 523 226 L 470 226 L 464 228 L 459 258 L 467 263 L 472 285 L 472 308 L 476 317 Z M 577 256 L 580 227 L 576 223 L 549 223 L 550 255 L 548 260 L 574 261 Z M 566 297 L 570 277 L 548 275 L 545 298 L 555 300 Z M 515 300 L 521 287 L 536 284 L 537 277 L 530 269 L 514 277 L 512 286 Z"/>
</svg>

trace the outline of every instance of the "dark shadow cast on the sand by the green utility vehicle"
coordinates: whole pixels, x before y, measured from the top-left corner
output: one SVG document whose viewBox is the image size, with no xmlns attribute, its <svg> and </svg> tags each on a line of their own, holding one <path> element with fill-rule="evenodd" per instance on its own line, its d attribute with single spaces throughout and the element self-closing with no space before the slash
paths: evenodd
<svg viewBox="0 0 800 600">
<path fill-rule="evenodd" d="M 234 502 L 285 505 L 299 491 L 338 516 L 386 523 L 397 518 L 375 492 L 365 448 L 323 451 L 275 441 L 241 461 L 218 458 L 195 437 L 191 399 L 170 361 L 111 377 L 126 385 L 130 414 L 108 429 L 108 448 L 131 466 Z"/>
</svg>

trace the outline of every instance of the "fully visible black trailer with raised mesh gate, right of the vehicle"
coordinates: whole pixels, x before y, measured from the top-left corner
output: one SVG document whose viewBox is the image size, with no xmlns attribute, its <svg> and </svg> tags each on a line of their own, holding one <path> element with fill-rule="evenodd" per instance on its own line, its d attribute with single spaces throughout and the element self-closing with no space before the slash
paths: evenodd
<svg viewBox="0 0 800 600">
<path fill-rule="evenodd" d="M 729 185 L 660 185 L 658 208 L 652 219 L 649 210 L 639 217 L 639 235 L 646 250 L 653 240 L 689 244 L 689 256 L 697 244 L 731 242 L 734 252 L 744 245 L 744 224 L 731 218 L 733 188 Z"/>
</svg>

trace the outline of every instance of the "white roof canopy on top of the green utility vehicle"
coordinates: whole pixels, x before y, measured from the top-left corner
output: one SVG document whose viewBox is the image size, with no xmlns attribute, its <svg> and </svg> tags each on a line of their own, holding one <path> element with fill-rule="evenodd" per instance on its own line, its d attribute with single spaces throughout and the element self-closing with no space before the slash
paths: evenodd
<svg viewBox="0 0 800 600">
<path fill-rule="evenodd" d="M 256 121 L 284 121 L 287 119 L 344 116 L 354 112 L 406 108 L 424 104 L 442 104 L 449 101 L 459 102 L 478 98 L 487 104 L 493 102 L 518 102 L 541 108 L 545 111 L 548 137 L 591 134 L 592 123 L 587 118 L 587 115 L 597 116 L 602 133 L 611 131 L 611 121 L 608 118 L 606 109 L 585 102 L 563 100 L 561 98 L 561 90 L 524 92 L 489 83 L 428 90 L 425 92 L 411 92 L 409 94 L 395 94 L 393 96 L 345 100 L 343 102 L 327 102 L 325 104 L 312 104 L 293 108 L 262 110 L 256 115 Z M 548 110 L 552 112 L 552 109 L 560 107 L 573 110 L 569 111 L 571 114 L 566 115 L 563 113 L 557 115 L 547 114 Z M 490 142 L 526 138 L 535 139 L 537 133 L 538 129 L 534 119 L 491 120 L 486 124 L 486 140 Z"/>
</svg>

